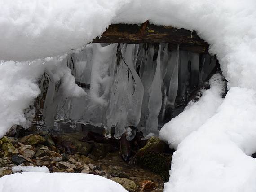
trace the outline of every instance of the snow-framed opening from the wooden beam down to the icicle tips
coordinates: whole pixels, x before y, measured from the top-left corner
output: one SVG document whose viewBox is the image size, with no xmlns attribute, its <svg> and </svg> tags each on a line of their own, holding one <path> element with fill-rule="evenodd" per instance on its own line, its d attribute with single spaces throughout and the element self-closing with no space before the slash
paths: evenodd
<svg viewBox="0 0 256 192">
<path fill-rule="evenodd" d="M 75 83 L 87 96 L 65 97 L 61 80 L 49 72 L 40 80 L 34 127 L 48 131 L 103 133 L 132 140 L 158 136 L 181 113 L 208 79 L 220 71 L 216 55 L 196 31 L 115 24 L 82 51 L 66 59 Z M 70 129 L 72 128 L 72 129 Z"/>
</svg>

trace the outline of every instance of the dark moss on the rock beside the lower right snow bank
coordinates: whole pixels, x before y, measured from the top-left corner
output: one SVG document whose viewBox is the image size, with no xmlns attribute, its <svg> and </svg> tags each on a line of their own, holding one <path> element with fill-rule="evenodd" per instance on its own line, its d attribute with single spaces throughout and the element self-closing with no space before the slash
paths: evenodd
<svg viewBox="0 0 256 192">
<path fill-rule="evenodd" d="M 137 156 L 137 163 L 154 173 L 161 175 L 164 181 L 169 179 L 172 156 L 161 153 L 146 152 L 143 156 Z"/>
</svg>

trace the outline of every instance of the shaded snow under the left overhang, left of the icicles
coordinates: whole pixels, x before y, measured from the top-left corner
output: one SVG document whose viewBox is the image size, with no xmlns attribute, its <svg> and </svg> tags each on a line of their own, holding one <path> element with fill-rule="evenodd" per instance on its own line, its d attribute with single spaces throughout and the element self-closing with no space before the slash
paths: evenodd
<svg viewBox="0 0 256 192">
<path fill-rule="evenodd" d="M 25 128 L 31 125 L 31 118 L 34 115 L 33 102 L 40 93 L 37 82 L 45 70 L 54 72 L 52 80 L 62 79 L 60 90 L 64 90 L 64 95 L 85 94 L 84 90 L 75 85 L 75 78 L 66 66 L 64 56 L 31 62 L 1 63 L 0 137 L 14 125 L 22 125 Z"/>
</svg>

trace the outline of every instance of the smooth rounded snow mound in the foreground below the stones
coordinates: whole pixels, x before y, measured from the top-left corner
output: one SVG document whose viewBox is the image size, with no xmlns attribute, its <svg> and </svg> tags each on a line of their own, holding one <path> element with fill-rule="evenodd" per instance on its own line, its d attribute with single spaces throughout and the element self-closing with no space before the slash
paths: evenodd
<svg viewBox="0 0 256 192">
<path fill-rule="evenodd" d="M 127 192 L 120 184 L 84 173 L 16 173 L 0 178 L 0 192 Z"/>
</svg>

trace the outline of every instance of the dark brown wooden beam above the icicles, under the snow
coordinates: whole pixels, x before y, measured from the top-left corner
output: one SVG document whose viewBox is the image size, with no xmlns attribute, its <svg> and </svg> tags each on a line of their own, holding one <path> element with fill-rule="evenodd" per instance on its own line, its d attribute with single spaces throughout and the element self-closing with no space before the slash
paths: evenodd
<svg viewBox="0 0 256 192">
<path fill-rule="evenodd" d="M 141 25 L 110 25 L 101 37 L 93 40 L 93 43 L 170 43 L 170 50 L 175 50 L 177 44 L 180 44 L 180 50 L 198 53 L 207 52 L 209 46 L 196 31 L 172 26 L 156 26 L 148 21 Z"/>
</svg>

